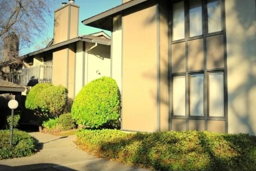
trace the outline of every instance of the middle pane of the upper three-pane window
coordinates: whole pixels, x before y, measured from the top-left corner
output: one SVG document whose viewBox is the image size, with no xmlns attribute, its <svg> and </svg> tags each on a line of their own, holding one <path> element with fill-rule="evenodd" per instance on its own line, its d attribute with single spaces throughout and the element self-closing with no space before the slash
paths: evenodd
<svg viewBox="0 0 256 171">
<path fill-rule="evenodd" d="M 189 33 L 190 37 L 203 34 L 201 0 L 189 1 Z"/>
</svg>

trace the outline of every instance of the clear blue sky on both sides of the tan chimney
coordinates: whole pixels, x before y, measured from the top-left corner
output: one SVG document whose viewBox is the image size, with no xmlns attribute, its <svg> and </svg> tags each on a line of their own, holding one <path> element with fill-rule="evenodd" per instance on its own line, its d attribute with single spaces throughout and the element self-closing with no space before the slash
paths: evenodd
<svg viewBox="0 0 256 171">
<path fill-rule="evenodd" d="M 47 23 L 48 28 L 47 28 L 47 30 L 44 30 L 44 32 L 46 32 L 46 36 L 44 36 L 41 39 L 38 39 L 38 42 L 36 42 L 37 44 L 41 44 L 43 40 L 53 37 L 54 10 L 61 7 L 62 2 L 68 2 L 68 0 L 54 0 L 54 2 L 52 4 L 52 9 L 51 9 L 52 15 L 45 17 L 45 20 L 48 22 Z M 85 26 L 80 21 L 90 18 L 98 13 L 107 11 L 110 8 L 121 5 L 121 3 L 122 3 L 122 0 L 75 0 L 75 4 L 80 6 L 78 35 L 96 33 L 96 32 L 101 31 L 100 29 L 97 29 L 94 27 Z M 108 31 L 105 31 L 105 32 L 109 35 L 111 34 Z M 22 54 L 31 53 L 31 52 L 38 50 L 35 48 L 35 46 L 26 48 L 26 49 L 22 49 L 20 54 L 22 55 Z"/>
</svg>

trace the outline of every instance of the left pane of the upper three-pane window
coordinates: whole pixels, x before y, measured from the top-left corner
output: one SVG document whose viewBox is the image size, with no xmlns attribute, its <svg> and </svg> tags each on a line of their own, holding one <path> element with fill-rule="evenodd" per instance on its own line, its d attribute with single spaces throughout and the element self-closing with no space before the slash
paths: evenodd
<svg viewBox="0 0 256 171">
<path fill-rule="evenodd" d="M 173 40 L 185 38 L 184 1 L 173 4 Z"/>
</svg>

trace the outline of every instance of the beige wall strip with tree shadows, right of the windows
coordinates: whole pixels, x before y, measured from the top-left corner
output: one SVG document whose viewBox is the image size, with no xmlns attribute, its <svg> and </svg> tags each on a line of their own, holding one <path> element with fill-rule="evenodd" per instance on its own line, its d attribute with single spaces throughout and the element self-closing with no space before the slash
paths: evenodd
<svg viewBox="0 0 256 171">
<path fill-rule="evenodd" d="M 256 4 L 225 0 L 228 132 L 256 135 Z"/>
</svg>

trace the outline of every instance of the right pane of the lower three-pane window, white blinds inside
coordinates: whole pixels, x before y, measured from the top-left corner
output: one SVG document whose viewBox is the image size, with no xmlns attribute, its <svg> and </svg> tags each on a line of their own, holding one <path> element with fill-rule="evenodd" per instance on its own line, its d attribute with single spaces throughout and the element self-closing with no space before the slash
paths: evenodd
<svg viewBox="0 0 256 171">
<path fill-rule="evenodd" d="M 209 73 L 209 116 L 224 117 L 223 72 Z"/>
</svg>

